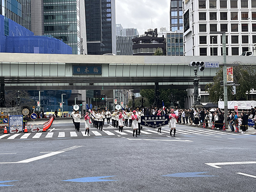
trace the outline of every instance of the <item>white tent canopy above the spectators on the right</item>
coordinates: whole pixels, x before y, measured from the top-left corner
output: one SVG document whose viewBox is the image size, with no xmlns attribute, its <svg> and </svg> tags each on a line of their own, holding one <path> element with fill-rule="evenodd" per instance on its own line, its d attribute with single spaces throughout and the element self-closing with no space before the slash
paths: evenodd
<svg viewBox="0 0 256 192">
<path fill-rule="evenodd" d="M 228 109 L 234 109 L 234 107 L 237 106 L 238 109 L 251 109 L 256 106 L 255 100 L 233 100 L 233 101 L 227 101 L 227 108 Z M 218 102 L 218 107 L 221 109 L 224 109 L 224 101 Z"/>
</svg>

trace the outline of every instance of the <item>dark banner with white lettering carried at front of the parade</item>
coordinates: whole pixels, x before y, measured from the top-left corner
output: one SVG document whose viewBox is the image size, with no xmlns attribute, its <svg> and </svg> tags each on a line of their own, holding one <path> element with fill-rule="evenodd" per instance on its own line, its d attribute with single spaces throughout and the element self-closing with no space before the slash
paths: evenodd
<svg viewBox="0 0 256 192">
<path fill-rule="evenodd" d="M 169 116 L 141 116 L 141 126 L 146 126 L 149 128 L 160 128 L 168 125 Z"/>
</svg>

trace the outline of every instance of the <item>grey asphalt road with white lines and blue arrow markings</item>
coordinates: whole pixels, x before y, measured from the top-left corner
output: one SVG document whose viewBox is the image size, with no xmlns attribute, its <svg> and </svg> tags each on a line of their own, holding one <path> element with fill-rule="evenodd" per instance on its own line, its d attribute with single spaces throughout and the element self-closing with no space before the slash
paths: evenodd
<svg viewBox="0 0 256 192">
<path fill-rule="evenodd" d="M 143 128 L 135 138 L 105 125 L 71 136 L 70 120 L 54 122 L 38 138 L 0 138 L 0 192 L 256 191 L 255 135 L 177 125 L 176 137 Z"/>
</svg>

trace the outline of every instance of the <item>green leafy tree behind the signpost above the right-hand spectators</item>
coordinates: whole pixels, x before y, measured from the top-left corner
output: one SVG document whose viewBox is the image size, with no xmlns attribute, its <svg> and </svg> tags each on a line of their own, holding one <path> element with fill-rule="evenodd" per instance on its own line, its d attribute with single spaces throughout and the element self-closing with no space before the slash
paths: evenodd
<svg viewBox="0 0 256 192">
<path fill-rule="evenodd" d="M 256 66 L 238 65 L 233 66 L 233 81 L 236 86 L 236 95 L 232 95 L 232 86 L 227 86 L 228 100 L 247 100 L 247 94 L 250 94 L 252 89 L 256 88 Z M 223 67 L 216 73 L 212 83 L 205 86 L 209 93 L 209 100 L 213 103 L 218 103 L 219 100 L 224 100 L 223 95 Z"/>
</svg>

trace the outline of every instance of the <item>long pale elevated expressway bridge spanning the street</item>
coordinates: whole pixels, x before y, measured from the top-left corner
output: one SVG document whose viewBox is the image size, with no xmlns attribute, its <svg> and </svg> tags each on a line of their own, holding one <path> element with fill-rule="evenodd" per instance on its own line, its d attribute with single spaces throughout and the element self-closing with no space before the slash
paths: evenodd
<svg viewBox="0 0 256 192">
<path fill-rule="evenodd" d="M 256 64 L 254 57 L 227 56 L 228 64 Z M 98 56 L 0 53 L 1 91 L 192 88 L 192 61 L 223 63 L 222 56 Z M 101 74 L 75 74 L 74 66 L 100 66 Z M 218 68 L 198 71 L 199 85 L 213 80 Z"/>
</svg>

